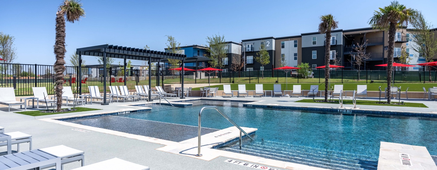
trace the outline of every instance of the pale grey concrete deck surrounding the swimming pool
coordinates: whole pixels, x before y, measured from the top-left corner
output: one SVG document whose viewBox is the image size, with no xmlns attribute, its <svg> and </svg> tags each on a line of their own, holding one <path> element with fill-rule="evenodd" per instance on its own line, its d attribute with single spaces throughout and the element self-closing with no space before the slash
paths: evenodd
<svg viewBox="0 0 437 170">
<path fill-rule="evenodd" d="M 199 97 L 187 97 L 185 100 L 195 99 Z M 206 98 L 206 97 L 203 97 Z M 295 103 L 293 101 L 298 101 L 302 99 L 310 99 L 309 97 L 208 97 L 209 99 L 228 99 L 228 100 L 247 100 L 247 101 L 257 101 L 256 104 L 269 104 L 269 105 L 287 105 L 287 106 L 304 106 L 304 107 L 329 107 L 336 108 L 340 107 L 339 104 L 318 104 L 318 103 Z M 312 98 L 312 97 L 311 97 Z M 318 97 L 318 99 L 322 99 Z M 368 99 L 374 99 L 369 97 Z M 183 99 L 171 99 L 170 101 L 179 101 Z M 348 98 L 345 98 L 348 100 Z M 363 99 L 358 99 L 363 100 Z M 375 100 L 375 99 L 374 99 Z M 408 112 L 428 112 L 430 114 L 437 114 L 437 101 L 428 101 L 422 99 L 410 99 L 401 100 L 406 102 L 418 102 L 427 105 L 429 108 L 409 108 L 409 107 L 396 107 L 396 106 L 368 106 L 368 105 L 357 105 L 360 109 L 371 109 L 371 110 L 388 110 L 388 111 L 408 111 Z M 104 132 L 98 132 L 91 130 L 90 132 L 79 132 L 72 130 L 75 127 L 69 125 L 63 125 L 58 123 L 53 123 L 49 121 L 41 121 L 38 119 L 44 118 L 55 118 L 64 116 L 74 116 L 80 114 L 92 114 L 100 112 L 110 112 L 110 111 L 123 111 L 131 109 L 139 109 L 139 107 L 128 106 L 129 104 L 140 104 L 144 101 L 139 102 L 126 102 L 126 103 L 113 103 L 106 106 L 100 105 L 100 103 L 86 104 L 87 108 L 99 108 L 103 109 L 100 111 L 87 111 L 87 112 L 76 112 L 76 113 L 64 113 L 64 114 L 53 114 L 45 116 L 27 116 L 23 114 L 17 114 L 13 112 L 3 112 L 0 111 L 0 126 L 5 127 L 5 132 L 15 132 L 20 131 L 32 135 L 33 137 L 33 148 L 45 148 L 50 146 L 65 145 L 72 147 L 74 149 L 83 150 L 85 152 L 85 164 L 91 164 L 100 162 L 103 160 L 108 160 L 114 157 L 124 159 L 133 163 L 138 163 L 144 166 L 148 166 L 151 169 L 164 170 L 164 169 L 180 169 L 180 170 L 223 170 L 223 169 L 243 169 L 250 170 L 251 167 L 244 167 L 234 163 L 227 163 L 225 160 L 233 159 L 239 160 L 234 154 L 229 154 L 229 152 L 222 152 L 216 158 L 210 159 L 208 161 L 194 158 L 191 156 L 182 156 L 180 154 L 174 154 L 170 152 L 162 151 L 165 149 L 164 146 L 169 146 L 171 143 L 156 143 L 148 142 L 144 140 L 123 137 L 120 135 L 112 135 Z M 352 105 L 344 105 L 344 107 L 353 107 Z M 28 108 L 28 110 L 33 110 Z M 66 122 L 68 123 L 68 122 Z M 250 127 L 257 128 L 257 127 Z M 83 128 L 85 129 L 85 128 Z M 88 129 L 87 129 L 88 130 Z M 162 141 L 164 142 L 164 141 Z M 174 143 L 173 143 L 174 144 Z M 25 150 L 28 144 L 23 144 L 21 148 Z M 203 147 L 202 147 L 203 148 Z M 16 146 L 13 146 L 13 150 Z M 216 149 L 212 149 L 216 150 Z M 6 147 L 0 147 L 0 152 L 6 151 Z M 0 153 L 4 155 L 6 152 Z M 204 155 L 208 154 L 208 149 L 204 150 Z M 229 154 L 229 155 L 227 155 Z M 316 167 L 299 167 L 300 164 L 288 166 L 282 161 L 249 156 L 246 157 L 244 154 L 240 154 L 242 162 L 248 162 L 253 164 L 264 164 L 267 167 L 275 167 L 276 165 L 279 169 L 322 169 Z M 205 157 L 206 158 L 206 157 Z M 249 159 L 249 160 L 247 160 Z M 250 161 L 252 160 L 252 161 Z M 266 161 L 267 160 L 267 161 Z M 264 163 L 263 163 L 264 161 Z M 276 162 L 275 162 L 276 161 Z M 272 165 L 273 164 L 273 165 Z M 69 163 L 65 165 L 66 170 L 79 167 L 80 163 Z"/>
</svg>

